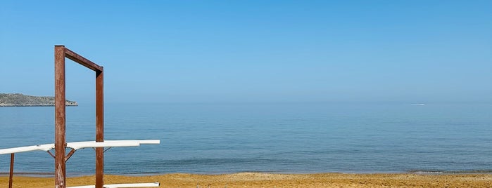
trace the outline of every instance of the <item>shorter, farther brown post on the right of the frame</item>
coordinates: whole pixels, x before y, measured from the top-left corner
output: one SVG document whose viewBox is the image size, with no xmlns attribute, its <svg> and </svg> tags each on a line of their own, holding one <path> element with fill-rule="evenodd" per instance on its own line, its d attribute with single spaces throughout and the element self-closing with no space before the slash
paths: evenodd
<svg viewBox="0 0 492 188">
<path fill-rule="evenodd" d="M 102 68 L 102 67 L 101 67 Z M 96 142 L 104 142 L 103 71 L 96 71 Z M 96 148 L 96 188 L 104 185 L 104 148 Z"/>
</svg>

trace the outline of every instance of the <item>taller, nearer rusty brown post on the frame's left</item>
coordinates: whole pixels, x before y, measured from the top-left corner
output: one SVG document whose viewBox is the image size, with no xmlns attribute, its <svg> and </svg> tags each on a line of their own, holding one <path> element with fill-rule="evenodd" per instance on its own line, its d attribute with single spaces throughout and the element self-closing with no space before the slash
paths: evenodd
<svg viewBox="0 0 492 188">
<path fill-rule="evenodd" d="M 55 46 L 55 187 L 65 188 L 65 46 Z"/>
</svg>

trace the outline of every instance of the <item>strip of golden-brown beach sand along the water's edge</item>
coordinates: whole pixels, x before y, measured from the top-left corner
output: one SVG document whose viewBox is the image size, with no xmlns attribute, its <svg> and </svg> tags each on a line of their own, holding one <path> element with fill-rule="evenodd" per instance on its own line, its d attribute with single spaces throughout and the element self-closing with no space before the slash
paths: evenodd
<svg viewBox="0 0 492 188">
<path fill-rule="evenodd" d="M 153 176 L 105 175 L 106 184 L 160 182 L 160 187 L 492 187 L 492 174 L 166 174 Z M 69 186 L 94 184 L 94 176 L 69 177 Z M 13 187 L 53 187 L 53 177 L 15 176 Z M 0 177 L 8 187 L 8 177 Z"/>
</svg>

